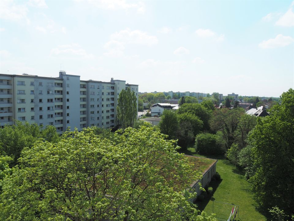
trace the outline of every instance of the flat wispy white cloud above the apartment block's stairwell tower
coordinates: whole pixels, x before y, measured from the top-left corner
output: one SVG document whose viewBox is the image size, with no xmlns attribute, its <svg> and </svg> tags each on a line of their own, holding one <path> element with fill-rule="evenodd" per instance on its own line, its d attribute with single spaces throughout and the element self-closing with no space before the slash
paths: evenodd
<svg viewBox="0 0 294 221">
<path fill-rule="evenodd" d="M 58 45 L 57 48 L 51 49 L 50 55 L 51 56 L 66 55 L 66 58 L 73 58 L 73 57 L 82 57 L 86 59 L 94 58 L 93 54 L 87 53 L 85 49 L 81 48 L 81 46 L 78 44 Z"/>
</svg>

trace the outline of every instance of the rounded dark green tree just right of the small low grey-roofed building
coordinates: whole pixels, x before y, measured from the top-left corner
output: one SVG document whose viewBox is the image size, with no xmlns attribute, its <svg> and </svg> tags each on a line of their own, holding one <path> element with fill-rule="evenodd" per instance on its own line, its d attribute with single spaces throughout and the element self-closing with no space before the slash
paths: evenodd
<svg viewBox="0 0 294 221">
<path fill-rule="evenodd" d="M 178 116 L 174 111 L 164 110 L 158 124 L 161 133 L 168 135 L 169 139 L 175 138 L 175 133 L 179 128 Z"/>
</svg>

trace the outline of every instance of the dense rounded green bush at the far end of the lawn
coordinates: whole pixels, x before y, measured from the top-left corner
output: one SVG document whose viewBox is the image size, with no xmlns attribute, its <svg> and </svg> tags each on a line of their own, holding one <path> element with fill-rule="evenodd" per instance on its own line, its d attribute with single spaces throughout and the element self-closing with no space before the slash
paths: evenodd
<svg viewBox="0 0 294 221">
<path fill-rule="evenodd" d="M 221 139 L 216 134 L 198 134 L 195 140 L 195 149 L 200 154 L 223 154 L 225 148 Z"/>
</svg>

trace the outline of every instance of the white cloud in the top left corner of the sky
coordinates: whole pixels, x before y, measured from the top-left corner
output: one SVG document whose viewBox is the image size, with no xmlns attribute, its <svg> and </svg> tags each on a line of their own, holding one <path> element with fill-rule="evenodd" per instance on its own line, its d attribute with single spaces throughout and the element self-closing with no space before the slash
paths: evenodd
<svg viewBox="0 0 294 221">
<path fill-rule="evenodd" d="M 10 21 L 26 21 L 30 20 L 27 17 L 28 8 L 25 5 L 15 4 L 13 1 L 1 1 L 0 17 L 1 19 Z"/>
</svg>

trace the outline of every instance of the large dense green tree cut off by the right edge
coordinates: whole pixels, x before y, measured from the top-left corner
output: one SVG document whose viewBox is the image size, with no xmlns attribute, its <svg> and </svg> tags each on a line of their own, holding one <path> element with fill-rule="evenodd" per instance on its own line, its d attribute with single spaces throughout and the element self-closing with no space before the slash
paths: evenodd
<svg viewBox="0 0 294 221">
<path fill-rule="evenodd" d="M 254 198 L 261 205 L 278 206 L 287 215 L 294 208 L 294 90 L 281 95 L 270 115 L 258 118 L 248 136 Z M 250 163 L 250 161 L 249 161 Z"/>
</svg>

